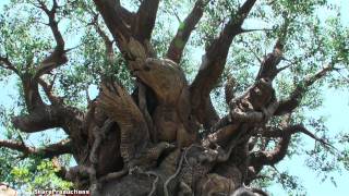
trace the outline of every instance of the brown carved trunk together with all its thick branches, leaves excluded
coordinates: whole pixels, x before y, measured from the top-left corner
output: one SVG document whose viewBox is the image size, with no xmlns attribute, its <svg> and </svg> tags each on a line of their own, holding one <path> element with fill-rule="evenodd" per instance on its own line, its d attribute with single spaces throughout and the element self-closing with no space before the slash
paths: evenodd
<svg viewBox="0 0 349 196">
<path fill-rule="evenodd" d="M 93 194 L 108 195 L 214 195 L 245 194 L 264 166 L 274 166 L 286 155 L 292 134 L 304 133 L 327 145 L 290 117 L 308 88 L 334 70 L 325 66 L 300 82 L 287 99 L 275 95 L 273 79 L 286 68 L 282 60 L 285 38 L 276 40 L 274 50 L 261 61 L 254 84 L 236 96 L 236 81 L 226 85 L 229 113 L 219 118 L 209 97 L 221 76 L 230 45 L 243 34 L 244 20 L 256 0 L 245 0 L 227 22 L 220 34 L 206 48 L 198 73 L 189 84 L 179 65 L 185 44 L 203 16 L 209 0 L 197 0 L 171 40 L 165 59 L 157 57 L 151 44 L 159 0 L 143 0 L 136 12 L 123 8 L 119 0 L 94 0 L 98 13 L 91 23 L 101 36 L 107 56 L 113 57 L 112 44 L 98 26 L 104 19 L 128 69 L 136 77 L 132 95 L 118 81 L 103 78 L 100 93 L 89 101 L 87 112 L 64 105 L 53 94 L 53 82 L 44 75 L 67 63 L 64 39 L 58 28 L 57 0 L 52 8 L 41 1 L 35 7 L 48 16 L 56 40 L 53 52 L 36 66 L 22 72 L 7 57 L 3 69 L 13 71 L 22 81 L 27 114 L 15 117 L 13 125 L 25 133 L 61 127 L 69 135 L 45 148 L 23 142 L 0 140 L 0 146 L 43 158 L 72 154 L 77 167 L 61 169 L 61 176 Z M 50 103 L 43 101 L 39 86 Z M 155 101 L 154 101 L 155 100 Z M 273 117 L 285 120 L 268 126 Z M 206 134 L 200 134 L 204 128 Z M 254 148 L 257 138 L 277 138 L 273 150 Z M 257 194 L 257 193 L 256 193 Z M 258 194 L 265 194 L 258 192 Z"/>
</svg>

